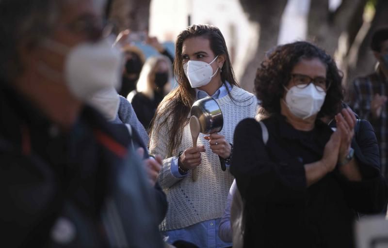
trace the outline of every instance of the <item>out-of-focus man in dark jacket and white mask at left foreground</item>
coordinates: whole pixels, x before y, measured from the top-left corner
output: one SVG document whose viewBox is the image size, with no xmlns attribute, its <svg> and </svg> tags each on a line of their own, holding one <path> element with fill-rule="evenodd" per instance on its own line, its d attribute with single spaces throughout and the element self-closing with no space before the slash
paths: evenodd
<svg viewBox="0 0 388 248">
<path fill-rule="evenodd" d="M 0 1 L 4 247 L 162 247 L 127 127 L 84 104 L 121 77 L 104 4 Z"/>
</svg>

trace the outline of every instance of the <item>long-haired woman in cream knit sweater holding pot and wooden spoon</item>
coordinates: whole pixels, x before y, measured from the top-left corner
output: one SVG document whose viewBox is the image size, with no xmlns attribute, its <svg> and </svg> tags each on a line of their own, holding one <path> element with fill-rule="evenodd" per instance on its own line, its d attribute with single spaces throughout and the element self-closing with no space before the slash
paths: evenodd
<svg viewBox="0 0 388 248">
<path fill-rule="evenodd" d="M 176 41 L 174 73 L 178 87 L 157 109 L 151 129 L 150 153 L 164 158 L 159 183 L 169 203 L 161 230 L 168 242 L 185 240 L 198 247 L 230 247 L 218 237 L 218 224 L 233 177 L 221 169 L 232 155 L 235 126 L 254 117 L 257 99 L 234 77 L 225 39 L 216 27 L 192 25 Z M 190 110 L 194 101 L 212 96 L 221 108 L 219 133 L 200 134 L 193 147 Z M 197 170 L 196 181 L 192 170 Z"/>
</svg>

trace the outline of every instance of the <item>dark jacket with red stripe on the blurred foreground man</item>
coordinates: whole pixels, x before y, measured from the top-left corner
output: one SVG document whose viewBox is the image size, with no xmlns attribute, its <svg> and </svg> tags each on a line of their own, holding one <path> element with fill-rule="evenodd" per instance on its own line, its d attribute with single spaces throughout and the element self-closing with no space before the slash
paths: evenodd
<svg viewBox="0 0 388 248">
<path fill-rule="evenodd" d="M 128 154 L 125 125 L 86 106 L 61 131 L 3 83 L 0 115 L 4 247 L 162 247 L 155 210 L 147 207 L 154 205 L 151 189 L 138 158 Z M 113 236 L 117 228 L 122 232 Z"/>
</svg>

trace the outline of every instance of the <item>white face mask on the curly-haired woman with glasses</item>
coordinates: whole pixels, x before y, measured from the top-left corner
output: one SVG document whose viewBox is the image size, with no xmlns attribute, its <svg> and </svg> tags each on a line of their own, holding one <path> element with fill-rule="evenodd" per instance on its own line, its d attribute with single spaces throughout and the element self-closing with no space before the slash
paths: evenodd
<svg viewBox="0 0 388 248">
<path fill-rule="evenodd" d="M 293 115 L 307 119 L 321 110 L 326 93 L 318 91 L 314 84 L 310 83 L 305 88 L 284 88 L 287 91 L 285 102 Z"/>
</svg>

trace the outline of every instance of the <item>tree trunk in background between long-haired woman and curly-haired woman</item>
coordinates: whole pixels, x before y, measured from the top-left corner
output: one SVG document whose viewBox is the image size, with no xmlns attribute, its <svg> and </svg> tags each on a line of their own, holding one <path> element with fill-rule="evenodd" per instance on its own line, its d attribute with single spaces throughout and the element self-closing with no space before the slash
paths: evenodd
<svg viewBox="0 0 388 248">
<path fill-rule="evenodd" d="M 240 85 L 244 90 L 253 92 L 257 68 L 265 58 L 265 53 L 277 44 L 281 16 L 287 0 L 240 0 L 240 2 L 252 27 L 252 32 L 247 34 L 250 36 L 252 47 L 246 52 L 244 60 L 246 64 L 243 67 L 245 70 L 240 77 Z"/>
</svg>

